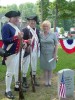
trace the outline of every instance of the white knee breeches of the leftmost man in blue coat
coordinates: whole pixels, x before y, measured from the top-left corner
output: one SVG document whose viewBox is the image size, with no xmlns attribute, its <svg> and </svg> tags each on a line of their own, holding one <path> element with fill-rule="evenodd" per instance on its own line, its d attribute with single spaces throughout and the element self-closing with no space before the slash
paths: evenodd
<svg viewBox="0 0 75 100">
<path fill-rule="evenodd" d="M 22 50 L 22 56 L 21 56 L 21 62 L 23 60 L 23 53 Z M 19 71 L 19 53 L 13 54 L 11 56 L 8 56 L 5 60 L 6 66 L 7 66 L 7 72 L 6 76 L 13 76 L 15 77 L 15 82 L 18 81 L 18 71 Z M 22 63 L 21 63 L 22 66 Z"/>
</svg>

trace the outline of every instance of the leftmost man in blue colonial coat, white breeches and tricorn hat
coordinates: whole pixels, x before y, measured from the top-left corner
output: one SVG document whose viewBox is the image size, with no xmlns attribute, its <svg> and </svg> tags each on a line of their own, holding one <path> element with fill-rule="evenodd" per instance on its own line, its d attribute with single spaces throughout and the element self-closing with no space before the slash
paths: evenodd
<svg viewBox="0 0 75 100">
<path fill-rule="evenodd" d="M 5 64 L 7 66 L 5 96 L 13 99 L 14 96 L 11 92 L 12 76 L 14 75 L 15 77 L 15 90 L 18 90 L 19 86 L 16 83 L 18 82 L 19 47 L 23 33 L 17 27 L 20 16 L 19 11 L 9 11 L 5 16 L 9 18 L 9 22 L 2 27 L 4 50 L 8 53 L 8 56 L 5 57 Z"/>
</svg>

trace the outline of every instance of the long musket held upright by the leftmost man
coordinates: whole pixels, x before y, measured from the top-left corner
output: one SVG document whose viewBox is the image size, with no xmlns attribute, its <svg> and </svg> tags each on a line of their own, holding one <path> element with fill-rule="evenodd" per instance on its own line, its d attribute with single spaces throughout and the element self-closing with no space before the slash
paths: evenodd
<svg viewBox="0 0 75 100">
<path fill-rule="evenodd" d="M 21 79 L 21 55 L 22 55 L 22 39 L 20 39 L 20 53 L 19 53 L 19 100 L 25 100 L 22 90 L 22 79 Z"/>
</svg>

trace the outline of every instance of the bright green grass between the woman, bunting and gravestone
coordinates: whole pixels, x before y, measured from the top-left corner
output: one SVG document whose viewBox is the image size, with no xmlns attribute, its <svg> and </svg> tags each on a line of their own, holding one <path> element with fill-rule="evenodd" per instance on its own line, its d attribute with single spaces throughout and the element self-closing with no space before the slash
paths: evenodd
<svg viewBox="0 0 75 100">
<path fill-rule="evenodd" d="M 75 69 L 75 53 L 68 54 L 61 48 L 58 50 L 58 62 L 54 72 L 57 72 L 64 68 Z"/>
</svg>

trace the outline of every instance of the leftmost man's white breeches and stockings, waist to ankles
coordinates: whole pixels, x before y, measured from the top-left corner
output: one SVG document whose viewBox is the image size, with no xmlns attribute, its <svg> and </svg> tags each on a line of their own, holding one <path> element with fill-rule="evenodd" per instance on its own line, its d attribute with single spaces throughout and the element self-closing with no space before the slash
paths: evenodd
<svg viewBox="0 0 75 100">
<path fill-rule="evenodd" d="M 21 56 L 21 62 L 23 60 L 23 50 Z M 5 60 L 7 66 L 6 72 L 6 92 L 11 91 L 11 83 L 12 83 L 12 76 L 14 75 L 15 78 L 15 86 L 16 82 L 18 81 L 18 71 L 19 71 L 19 53 L 13 54 Z M 21 63 L 22 66 L 22 63 Z"/>
</svg>

